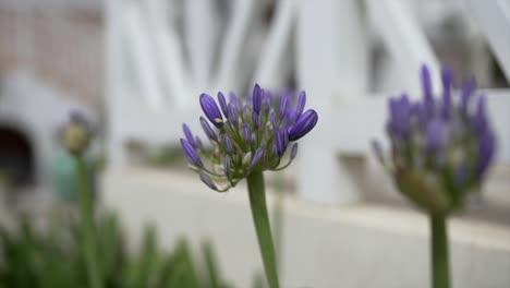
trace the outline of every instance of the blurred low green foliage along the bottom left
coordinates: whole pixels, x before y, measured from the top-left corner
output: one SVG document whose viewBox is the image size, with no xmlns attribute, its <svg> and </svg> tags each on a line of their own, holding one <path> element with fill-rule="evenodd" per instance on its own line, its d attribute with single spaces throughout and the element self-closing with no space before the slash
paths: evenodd
<svg viewBox="0 0 510 288">
<path fill-rule="evenodd" d="M 209 242 L 203 244 L 201 262 L 196 262 L 185 240 L 165 252 L 158 245 L 156 230 L 147 228 L 141 249 L 127 254 L 116 217 L 101 217 L 96 229 L 102 287 L 230 287 L 219 274 Z M 83 239 L 76 221 L 53 221 L 44 231 L 26 218 L 12 231 L 0 227 L 0 288 L 89 287 Z"/>
</svg>

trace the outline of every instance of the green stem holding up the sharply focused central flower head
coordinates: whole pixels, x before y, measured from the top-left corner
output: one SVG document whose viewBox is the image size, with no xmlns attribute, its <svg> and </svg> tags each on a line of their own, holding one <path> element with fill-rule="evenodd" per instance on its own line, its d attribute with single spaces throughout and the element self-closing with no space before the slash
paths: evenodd
<svg viewBox="0 0 510 288">
<path fill-rule="evenodd" d="M 264 269 L 270 288 L 278 288 L 278 272 L 272 243 L 271 227 L 267 213 L 266 191 L 264 187 L 264 175 L 262 172 L 251 173 L 247 178 L 250 194 L 250 206 L 252 207 L 253 223 L 258 238 L 258 245 L 264 262 Z"/>
</svg>

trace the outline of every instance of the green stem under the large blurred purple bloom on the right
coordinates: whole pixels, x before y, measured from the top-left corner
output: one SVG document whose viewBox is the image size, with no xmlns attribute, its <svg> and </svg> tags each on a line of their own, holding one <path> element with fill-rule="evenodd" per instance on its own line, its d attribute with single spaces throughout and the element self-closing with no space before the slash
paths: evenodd
<svg viewBox="0 0 510 288">
<path fill-rule="evenodd" d="M 448 233 L 445 215 L 430 215 L 433 288 L 449 288 Z"/>
</svg>

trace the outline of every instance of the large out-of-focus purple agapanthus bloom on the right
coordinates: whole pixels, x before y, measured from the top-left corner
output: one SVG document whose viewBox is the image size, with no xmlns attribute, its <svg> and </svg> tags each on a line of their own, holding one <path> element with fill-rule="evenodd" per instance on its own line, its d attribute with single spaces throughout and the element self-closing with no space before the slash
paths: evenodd
<svg viewBox="0 0 510 288">
<path fill-rule="evenodd" d="M 389 99 L 387 133 L 391 158 L 373 142 L 377 157 L 392 173 L 400 192 L 432 213 L 461 207 L 478 188 L 495 154 L 485 95 L 466 81 L 453 95 L 453 73 L 441 73 L 442 95 L 435 98 L 430 72 L 422 67 L 423 99 L 406 94 Z"/>
</svg>

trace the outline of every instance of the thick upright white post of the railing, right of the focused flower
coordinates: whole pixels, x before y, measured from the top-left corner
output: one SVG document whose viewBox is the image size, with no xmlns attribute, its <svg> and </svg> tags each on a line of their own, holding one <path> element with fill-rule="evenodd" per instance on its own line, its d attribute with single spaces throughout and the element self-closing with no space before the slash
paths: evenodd
<svg viewBox="0 0 510 288">
<path fill-rule="evenodd" d="M 299 2 L 296 67 L 299 86 L 307 91 L 319 120 L 303 141 L 299 158 L 298 193 L 317 202 L 359 199 L 335 143 L 335 107 L 342 98 L 364 96 L 367 88 L 367 45 L 361 7 L 355 0 Z M 341 91 L 338 89 L 341 88 Z M 356 123 L 353 123 L 356 124 Z"/>
</svg>

